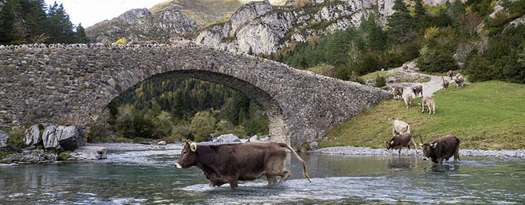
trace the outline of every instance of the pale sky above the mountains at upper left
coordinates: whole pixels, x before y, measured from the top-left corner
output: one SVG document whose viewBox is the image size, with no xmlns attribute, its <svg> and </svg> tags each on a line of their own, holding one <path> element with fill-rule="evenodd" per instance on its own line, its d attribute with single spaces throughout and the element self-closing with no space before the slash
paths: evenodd
<svg viewBox="0 0 525 205">
<path fill-rule="evenodd" d="M 102 20 L 111 20 L 135 8 L 152 8 L 157 3 L 166 0 L 45 0 L 46 4 L 53 5 L 56 1 L 62 3 L 64 9 L 69 14 L 69 18 L 74 25 L 82 23 L 82 27 L 87 28 Z M 261 0 L 240 0 L 261 1 Z M 283 0 L 270 0 L 277 3 Z"/>
</svg>

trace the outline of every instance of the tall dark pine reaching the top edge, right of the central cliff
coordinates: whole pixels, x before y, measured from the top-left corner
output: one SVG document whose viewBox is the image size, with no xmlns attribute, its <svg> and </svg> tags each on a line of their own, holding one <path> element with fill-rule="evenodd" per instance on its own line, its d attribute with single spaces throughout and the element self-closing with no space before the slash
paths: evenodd
<svg viewBox="0 0 525 205">
<path fill-rule="evenodd" d="M 394 0 L 394 14 L 388 16 L 389 38 L 393 42 L 407 42 L 415 36 L 413 17 L 403 0 Z"/>
</svg>

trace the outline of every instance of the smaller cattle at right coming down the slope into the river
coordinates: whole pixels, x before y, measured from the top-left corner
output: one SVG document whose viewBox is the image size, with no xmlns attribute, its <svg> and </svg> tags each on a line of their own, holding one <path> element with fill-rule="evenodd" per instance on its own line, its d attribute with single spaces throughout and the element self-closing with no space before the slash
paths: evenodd
<svg viewBox="0 0 525 205">
<path fill-rule="evenodd" d="M 452 80 L 453 72 L 452 70 L 448 71 L 448 77 L 450 80 Z M 448 81 L 441 77 L 441 80 L 443 83 L 443 90 L 447 90 L 448 88 Z M 463 87 L 463 84 L 465 83 L 465 78 L 461 76 L 461 74 L 456 75 L 456 79 L 454 79 L 454 83 L 456 83 L 457 87 Z M 435 114 L 435 101 L 430 96 L 423 96 L 423 87 L 422 85 L 413 85 L 411 87 L 411 91 L 415 98 L 418 96 L 423 97 L 421 100 L 421 113 L 424 113 L 425 108 L 428 109 L 428 114 L 431 113 Z M 394 87 L 392 92 L 394 93 L 394 99 L 403 99 L 405 101 L 405 105 L 407 106 L 407 109 L 409 109 L 412 105 L 412 94 L 408 93 L 405 94 L 405 96 L 402 96 L 403 89 L 402 87 Z M 406 122 L 402 122 L 400 120 L 396 120 L 396 118 L 390 119 L 392 120 L 392 139 L 390 141 L 385 141 L 385 148 L 387 151 L 389 151 L 389 155 L 392 154 L 392 150 L 398 150 L 399 155 L 401 154 L 402 148 L 407 148 L 407 152 L 410 150 L 410 145 L 412 144 L 415 148 L 415 153 L 418 154 L 418 147 L 415 144 L 415 141 L 410 133 L 410 126 Z M 433 163 L 443 163 L 443 160 L 448 161 L 448 159 L 451 156 L 454 156 L 454 162 L 457 162 L 459 160 L 459 139 L 457 139 L 454 135 L 446 135 L 444 137 L 440 137 L 439 139 L 431 142 L 431 143 L 420 143 L 421 149 L 423 151 L 423 159 L 431 159 Z"/>
</svg>

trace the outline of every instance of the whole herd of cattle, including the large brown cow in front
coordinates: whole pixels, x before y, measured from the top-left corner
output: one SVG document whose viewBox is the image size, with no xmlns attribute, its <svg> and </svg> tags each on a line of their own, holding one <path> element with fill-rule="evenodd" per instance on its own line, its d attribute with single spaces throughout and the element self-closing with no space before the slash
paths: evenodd
<svg viewBox="0 0 525 205">
<path fill-rule="evenodd" d="M 452 71 L 449 73 L 452 79 Z M 443 79 L 443 88 L 446 90 L 448 81 Z M 457 75 L 455 83 L 458 87 L 463 86 L 465 79 L 461 74 Z M 435 102 L 429 96 L 423 96 L 422 85 L 411 87 L 414 96 L 423 97 L 421 102 L 422 113 L 425 107 L 428 108 L 428 113 L 435 114 Z M 407 109 L 410 108 L 412 102 L 411 94 L 402 96 L 402 87 L 394 87 L 394 98 L 403 98 Z M 399 155 L 402 148 L 410 150 L 412 144 L 415 148 L 415 153 L 418 153 L 418 147 L 410 133 L 410 126 L 406 122 L 392 120 L 392 139 L 385 141 L 385 148 L 392 154 L 392 150 L 397 149 Z M 423 151 L 423 159 L 431 159 L 434 163 L 441 164 L 443 160 L 448 161 L 451 156 L 454 156 L 454 162 L 459 160 L 459 139 L 454 135 L 446 135 L 431 143 L 422 143 L 420 147 Z M 290 150 L 296 158 L 303 164 L 303 176 L 310 182 L 310 178 L 306 171 L 306 163 L 295 152 L 293 148 L 285 143 L 276 142 L 253 142 L 253 143 L 231 143 L 221 145 L 205 145 L 192 143 L 186 141 L 184 148 L 181 151 L 181 156 L 175 164 L 177 168 L 199 167 L 203 174 L 209 180 L 209 187 L 221 186 L 229 183 L 231 189 L 237 189 L 238 180 L 256 180 L 261 176 L 266 176 L 268 184 L 281 184 L 290 177 L 290 171 L 285 169 L 286 150 Z M 277 176 L 280 180 L 277 181 Z"/>
</svg>

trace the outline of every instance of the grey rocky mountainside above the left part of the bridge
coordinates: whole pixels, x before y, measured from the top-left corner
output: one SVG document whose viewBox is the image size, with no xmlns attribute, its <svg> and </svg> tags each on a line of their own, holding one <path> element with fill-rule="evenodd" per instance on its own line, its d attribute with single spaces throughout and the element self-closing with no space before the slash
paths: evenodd
<svg viewBox="0 0 525 205">
<path fill-rule="evenodd" d="M 97 23 L 86 29 L 86 35 L 95 42 L 102 43 L 114 42 L 119 38 L 126 38 L 128 41 L 166 42 L 198 28 L 199 24 L 175 8 L 155 15 L 142 8 L 129 10 L 112 20 Z"/>
</svg>

